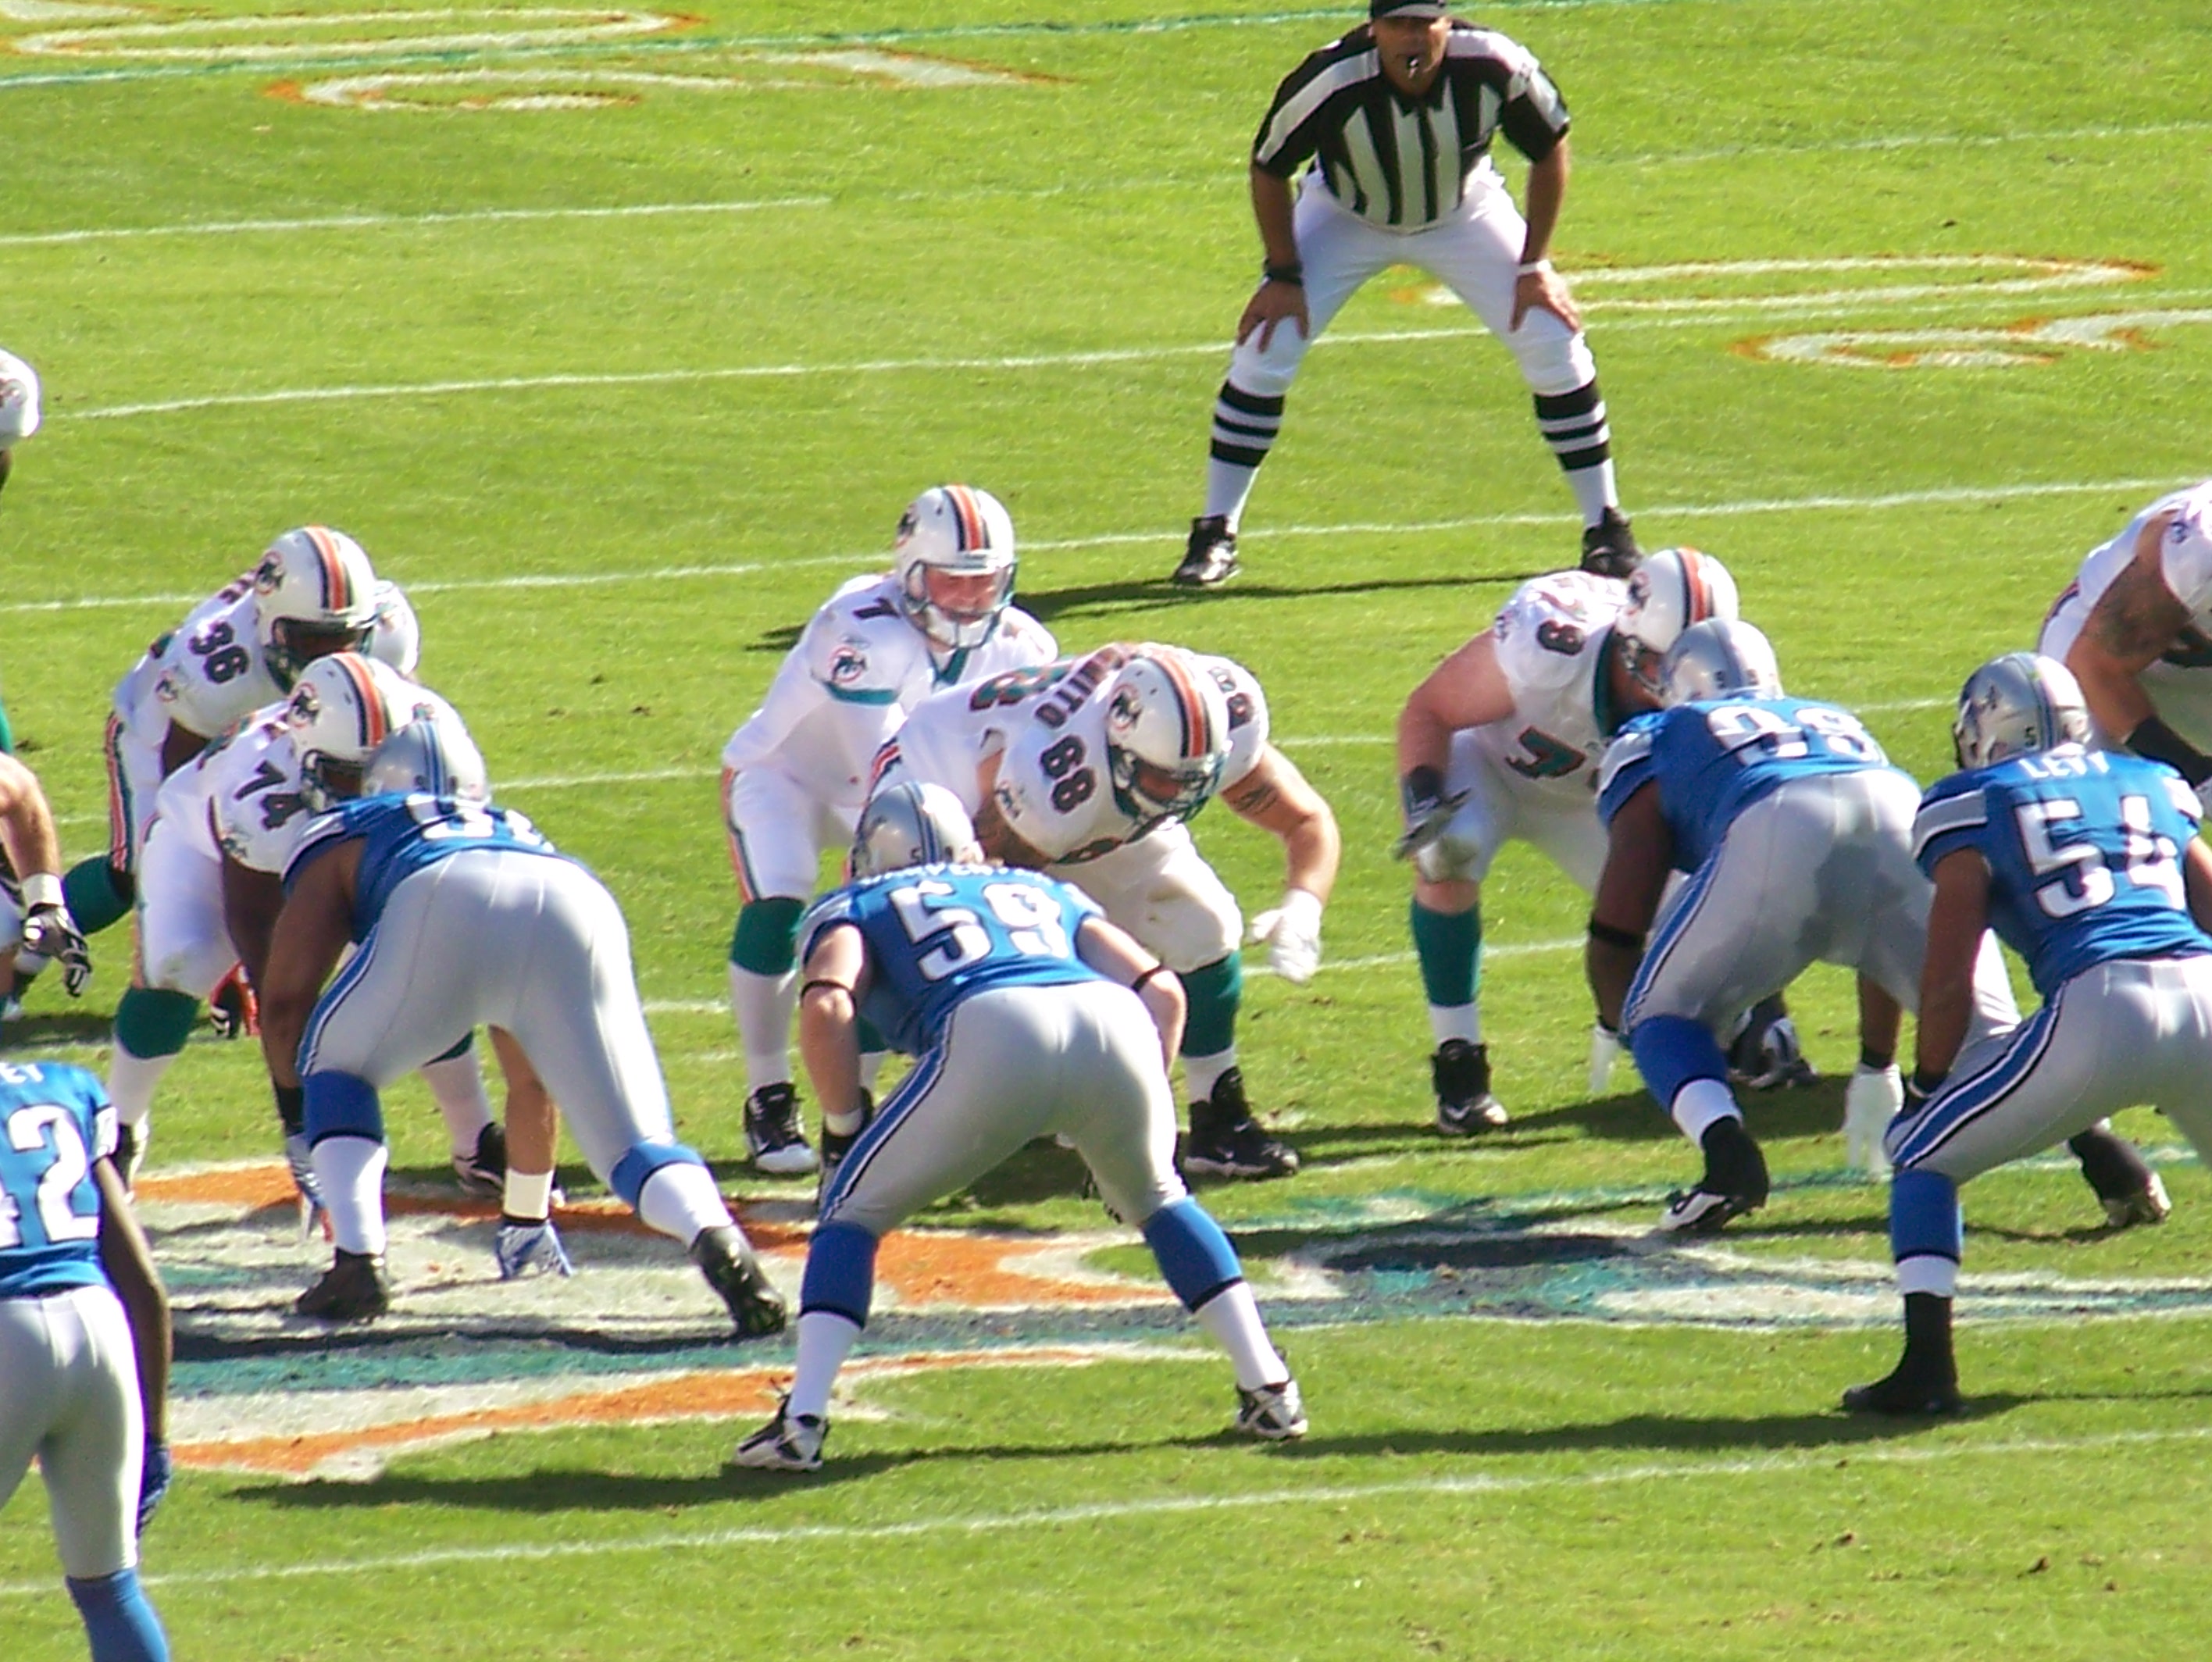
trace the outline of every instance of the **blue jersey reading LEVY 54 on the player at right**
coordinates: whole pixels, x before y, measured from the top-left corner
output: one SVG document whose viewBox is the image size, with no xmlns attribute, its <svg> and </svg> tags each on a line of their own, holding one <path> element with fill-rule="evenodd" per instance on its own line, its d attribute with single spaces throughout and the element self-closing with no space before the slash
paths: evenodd
<svg viewBox="0 0 2212 1662">
<path fill-rule="evenodd" d="M 1920 799 L 1913 859 L 1931 876 L 1960 848 L 1989 861 L 1989 923 L 2051 998 L 2112 958 L 2212 952 L 2181 881 L 2199 819 L 2163 761 L 2066 744 L 1940 779 Z"/>
</svg>

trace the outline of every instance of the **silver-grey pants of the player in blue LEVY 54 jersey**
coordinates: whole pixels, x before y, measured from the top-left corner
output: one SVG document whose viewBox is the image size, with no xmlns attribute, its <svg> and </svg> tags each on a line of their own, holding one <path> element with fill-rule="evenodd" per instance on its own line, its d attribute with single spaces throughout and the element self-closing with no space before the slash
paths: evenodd
<svg viewBox="0 0 2212 1662">
<path fill-rule="evenodd" d="M 2084 969 L 2013 1031 L 1960 1051 L 1885 1144 L 1898 1171 L 1964 1184 L 2137 1104 L 2163 1109 L 2212 1160 L 2212 954 Z"/>
</svg>

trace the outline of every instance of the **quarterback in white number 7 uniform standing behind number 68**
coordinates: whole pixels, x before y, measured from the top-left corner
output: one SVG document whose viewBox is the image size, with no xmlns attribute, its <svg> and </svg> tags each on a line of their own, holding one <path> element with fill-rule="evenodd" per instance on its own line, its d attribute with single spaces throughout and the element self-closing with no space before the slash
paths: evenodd
<svg viewBox="0 0 2212 1662">
<path fill-rule="evenodd" d="M 761 1171 L 814 1171 L 790 1058 L 799 916 L 823 850 L 852 843 L 876 750 L 931 693 L 1060 651 L 1011 604 L 1013 573 L 1013 522 L 998 498 L 969 485 L 922 491 L 898 522 L 891 571 L 830 595 L 723 746 L 739 892 L 730 1009 L 745 1049 L 745 1144 Z"/>
</svg>

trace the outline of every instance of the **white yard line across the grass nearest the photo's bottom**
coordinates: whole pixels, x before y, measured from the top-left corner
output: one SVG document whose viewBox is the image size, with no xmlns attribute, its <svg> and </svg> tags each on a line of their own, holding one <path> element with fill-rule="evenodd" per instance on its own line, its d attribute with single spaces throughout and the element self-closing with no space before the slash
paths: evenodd
<svg viewBox="0 0 2212 1662">
<path fill-rule="evenodd" d="M 1836 1421 L 1838 1434 L 1849 1427 Z M 1447 1474 L 1398 1478 L 1391 1483 L 1314 1483 L 1303 1487 L 1256 1489 L 1250 1494 L 1161 1494 L 1130 1500 L 1084 1500 L 1066 1507 L 1015 1512 L 947 1512 L 898 1523 L 796 1523 L 759 1525 L 750 1529 L 668 1529 L 650 1536 L 544 1542 L 502 1542 L 482 1547 L 436 1547 L 431 1551 L 385 1554 L 374 1558 L 310 1558 L 294 1562 L 228 1565 L 221 1569 L 181 1569 L 144 1576 L 148 1587 L 243 1587 L 250 1582 L 285 1582 L 312 1576 L 389 1576 L 394 1571 L 447 1569 L 458 1565 L 562 1562 L 571 1558 L 604 1558 L 641 1551 L 717 1551 L 728 1547 L 812 1547 L 825 1540 L 916 1540 L 927 1536 L 987 1536 L 1022 1529 L 1060 1529 L 1071 1525 L 1126 1523 L 1139 1518 L 1175 1518 L 1214 1512 L 1272 1512 L 1292 1507 L 1340 1507 L 1365 1500 L 1405 1496 L 1515 1496 L 1542 1492 L 1613 1489 L 1641 1483 L 1710 1483 L 1712 1478 L 1809 1476 L 1838 1467 L 1918 1467 L 1951 1461 L 2017 1461 L 2042 1456 L 2106 1454 L 2115 1450 L 2177 1447 L 2205 1443 L 2212 1427 L 2177 1427 L 2161 1432 L 2106 1432 L 2101 1436 L 2008 1438 L 2002 1443 L 1942 1443 L 1911 1447 L 1869 1447 L 1838 1441 L 1796 1454 L 1756 1454 L 1739 1461 L 1652 1461 L 1597 1472 L 1551 1474 Z M 1318 1438 L 1316 1438 L 1318 1441 Z M 51 1598 L 53 1580 L 0 1582 L 0 1598 Z"/>
</svg>

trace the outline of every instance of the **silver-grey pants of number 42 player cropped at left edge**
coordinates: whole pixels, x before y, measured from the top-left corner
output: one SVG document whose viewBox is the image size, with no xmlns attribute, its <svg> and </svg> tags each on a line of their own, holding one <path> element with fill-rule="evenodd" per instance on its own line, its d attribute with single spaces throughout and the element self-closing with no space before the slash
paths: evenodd
<svg viewBox="0 0 2212 1662">
<path fill-rule="evenodd" d="M 38 1456 L 71 1580 L 137 1562 L 144 1452 L 137 1352 L 115 1292 L 0 1299 L 0 1507 Z"/>
</svg>

